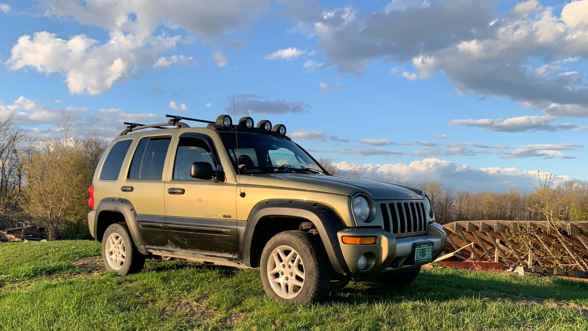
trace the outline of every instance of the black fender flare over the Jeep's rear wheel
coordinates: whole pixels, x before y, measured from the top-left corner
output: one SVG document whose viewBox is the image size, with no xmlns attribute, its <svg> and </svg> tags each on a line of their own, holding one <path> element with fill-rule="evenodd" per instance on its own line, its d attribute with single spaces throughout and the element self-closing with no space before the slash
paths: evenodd
<svg viewBox="0 0 588 331">
<path fill-rule="evenodd" d="M 103 198 L 100 200 L 98 207 L 96 208 L 96 216 L 94 221 L 94 233 L 98 233 L 98 220 L 102 211 L 116 211 L 121 213 L 125 217 L 126 226 L 129 228 L 131 237 L 137 249 L 143 254 L 149 254 L 149 251 L 145 249 L 145 241 L 143 241 L 141 234 L 139 233 L 139 226 L 137 223 L 137 213 L 135 207 L 131 201 L 123 198 Z M 96 241 L 100 240 L 96 237 Z"/>
</svg>

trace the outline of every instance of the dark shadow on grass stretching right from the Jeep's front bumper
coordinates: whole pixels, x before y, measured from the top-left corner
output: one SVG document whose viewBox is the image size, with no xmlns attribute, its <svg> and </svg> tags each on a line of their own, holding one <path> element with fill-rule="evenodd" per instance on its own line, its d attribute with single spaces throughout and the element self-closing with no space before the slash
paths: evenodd
<svg viewBox="0 0 588 331">
<path fill-rule="evenodd" d="M 544 279 L 538 280 L 545 282 Z M 446 301 L 479 297 L 509 299 L 515 302 L 542 300 L 574 300 L 588 305 L 588 283 L 553 279 L 549 285 L 522 284 L 500 279 L 476 279 L 467 274 L 421 273 L 405 288 L 385 283 L 350 283 L 331 293 L 328 301 L 341 303 L 373 303 L 409 301 Z"/>
</svg>

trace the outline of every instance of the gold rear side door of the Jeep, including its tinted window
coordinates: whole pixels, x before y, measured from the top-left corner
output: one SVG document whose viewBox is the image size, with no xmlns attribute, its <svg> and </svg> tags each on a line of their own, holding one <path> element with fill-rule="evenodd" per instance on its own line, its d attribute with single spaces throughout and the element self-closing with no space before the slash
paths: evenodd
<svg viewBox="0 0 588 331">
<path fill-rule="evenodd" d="M 165 234 L 163 174 L 167 167 L 172 135 L 142 137 L 121 180 L 119 197 L 133 204 L 139 232 L 146 246 L 168 246 Z"/>
</svg>

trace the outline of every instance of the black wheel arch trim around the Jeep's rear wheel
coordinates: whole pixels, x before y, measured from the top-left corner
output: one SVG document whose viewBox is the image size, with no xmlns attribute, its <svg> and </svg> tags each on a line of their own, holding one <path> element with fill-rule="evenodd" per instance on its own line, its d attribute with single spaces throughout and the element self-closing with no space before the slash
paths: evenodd
<svg viewBox="0 0 588 331">
<path fill-rule="evenodd" d="M 131 201 L 123 198 L 103 198 L 96 208 L 94 233 L 96 241 L 102 241 L 104 231 L 114 223 L 125 223 L 131 233 L 135 246 L 142 254 L 149 254 L 139 233 L 137 213 Z"/>
</svg>

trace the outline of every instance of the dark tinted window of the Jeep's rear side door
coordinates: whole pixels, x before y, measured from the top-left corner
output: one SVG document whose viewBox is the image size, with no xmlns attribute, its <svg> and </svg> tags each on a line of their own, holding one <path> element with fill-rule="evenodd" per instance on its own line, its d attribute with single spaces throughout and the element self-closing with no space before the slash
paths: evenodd
<svg viewBox="0 0 588 331">
<path fill-rule="evenodd" d="M 128 178 L 161 180 L 170 141 L 171 137 L 141 139 L 133 155 Z"/>
</svg>

